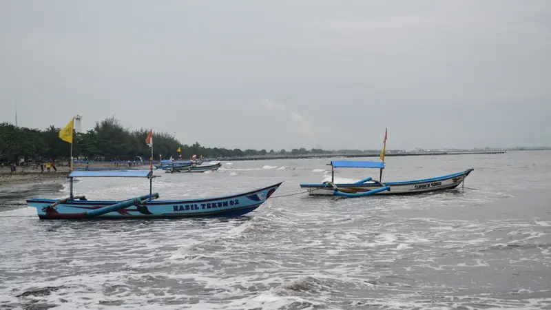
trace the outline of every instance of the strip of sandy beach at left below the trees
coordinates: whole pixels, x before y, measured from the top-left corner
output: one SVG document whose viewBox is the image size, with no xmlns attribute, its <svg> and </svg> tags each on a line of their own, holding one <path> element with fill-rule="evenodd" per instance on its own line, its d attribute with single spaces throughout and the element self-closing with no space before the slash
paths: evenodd
<svg viewBox="0 0 551 310">
<path fill-rule="evenodd" d="M 84 168 L 86 165 L 75 164 L 74 167 Z M 113 168 L 113 169 L 124 169 L 128 165 L 119 165 L 118 167 L 113 164 L 94 164 L 90 165 L 94 168 Z M 132 168 L 149 168 L 149 165 L 136 165 Z M 17 171 L 11 173 L 10 167 L 0 168 L 0 187 L 18 184 L 18 183 L 44 183 L 44 182 L 56 182 L 61 181 L 65 182 L 65 178 L 69 175 L 70 167 L 67 166 L 56 166 L 57 171 L 54 172 L 54 169 L 50 168 L 50 172 L 41 172 L 40 168 L 33 169 L 32 167 L 17 167 Z"/>
</svg>

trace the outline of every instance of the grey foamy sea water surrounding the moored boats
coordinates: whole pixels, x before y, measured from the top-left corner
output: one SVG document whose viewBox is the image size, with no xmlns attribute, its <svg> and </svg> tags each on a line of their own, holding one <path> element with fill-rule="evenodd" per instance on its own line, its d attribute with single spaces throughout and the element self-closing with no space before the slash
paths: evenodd
<svg viewBox="0 0 551 310">
<path fill-rule="evenodd" d="M 160 199 L 284 180 L 230 219 L 39 220 L 15 203 L 65 197 L 67 184 L 20 185 L 0 196 L 0 309 L 550 309 L 550 157 L 387 157 L 383 181 L 475 170 L 464 189 L 352 199 L 278 198 L 330 178 L 330 159 L 156 172 Z M 337 169 L 335 180 L 378 174 Z M 75 192 L 132 198 L 149 184 L 82 179 Z"/>
</svg>

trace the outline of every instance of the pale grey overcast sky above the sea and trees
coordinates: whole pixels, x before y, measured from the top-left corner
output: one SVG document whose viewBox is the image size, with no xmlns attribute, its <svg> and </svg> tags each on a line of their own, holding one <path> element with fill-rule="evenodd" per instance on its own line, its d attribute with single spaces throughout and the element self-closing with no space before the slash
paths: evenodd
<svg viewBox="0 0 551 310">
<path fill-rule="evenodd" d="M 0 1 L 0 122 L 256 149 L 551 146 L 551 1 Z"/>
</svg>

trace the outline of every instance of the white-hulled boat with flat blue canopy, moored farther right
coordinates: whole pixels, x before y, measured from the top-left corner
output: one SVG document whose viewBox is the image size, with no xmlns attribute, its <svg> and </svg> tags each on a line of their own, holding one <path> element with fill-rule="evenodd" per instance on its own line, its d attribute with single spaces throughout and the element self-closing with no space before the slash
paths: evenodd
<svg viewBox="0 0 551 310">
<path fill-rule="evenodd" d="M 378 168 L 384 169 L 384 163 L 375 161 L 331 161 L 331 182 L 301 183 L 300 187 L 308 190 L 309 196 L 342 196 L 348 198 L 371 196 L 375 194 L 417 194 L 422 192 L 442 191 L 453 189 L 464 182 L 472 172 L 472 168 L 463 172 L 425 178 L 420 180 L 406 180 L 401 182 L 382 183 L 371 177 L 355 183 L 334 183 L 335 168 Z"/>
</svg>

